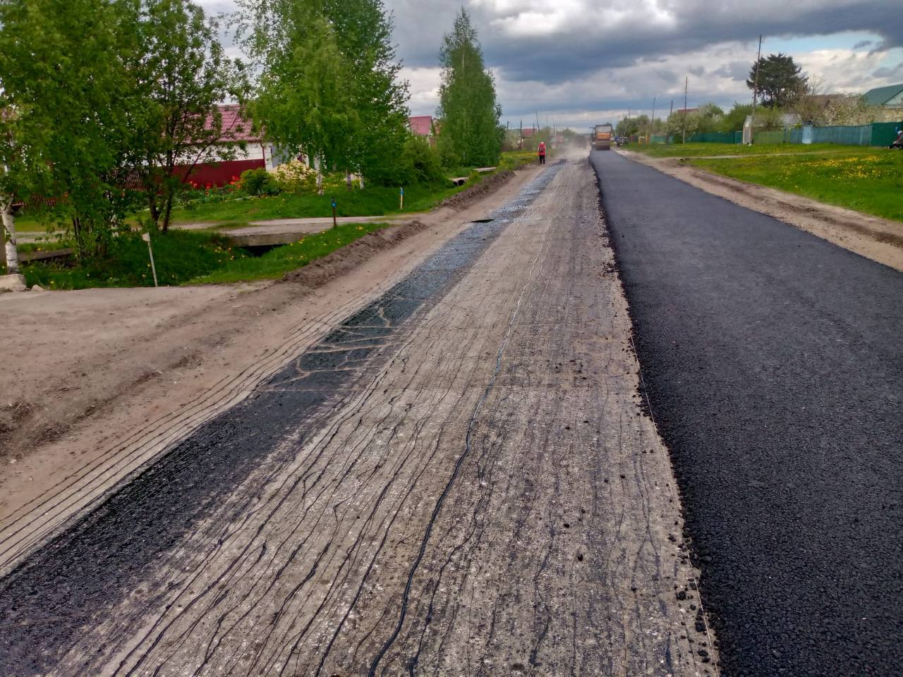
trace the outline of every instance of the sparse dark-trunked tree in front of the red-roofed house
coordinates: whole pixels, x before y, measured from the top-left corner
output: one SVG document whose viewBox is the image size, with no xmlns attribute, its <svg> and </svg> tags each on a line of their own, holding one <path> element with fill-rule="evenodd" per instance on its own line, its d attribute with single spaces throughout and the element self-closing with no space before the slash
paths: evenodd
<svg viewBox="0 0 903 677">
<path fill-rule="evenodd" d="M 144 101 L 135 135 L 144 199 L 155 227 L 169 228 L 172 202 L 214 145 L 235 157 L 240 129 L 223 129 L 217 103 L 245 96 L 241 65 L 225 57 L 218 25 L 191 0 L 144 0 L 135 70 Z M 232 139 L 232 143 L 229 140 Z"/>
</svg>

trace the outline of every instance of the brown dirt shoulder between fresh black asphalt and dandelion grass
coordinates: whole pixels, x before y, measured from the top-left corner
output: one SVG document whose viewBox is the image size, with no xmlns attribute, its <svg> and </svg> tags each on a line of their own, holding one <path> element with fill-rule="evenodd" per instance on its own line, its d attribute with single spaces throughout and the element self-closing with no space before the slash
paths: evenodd
<svg viewBox="0 0 903 677">
<path fill-rule="evenodd" d="M 834 245 L 903 271 L 903 223 L 712 174 L 698 167 L 685 165 L 680 158 L 656 159 L 623 150 L 618 153 L 712 195 L 768 214 L 769 217 L 801 228 Z"/>
</svg>

